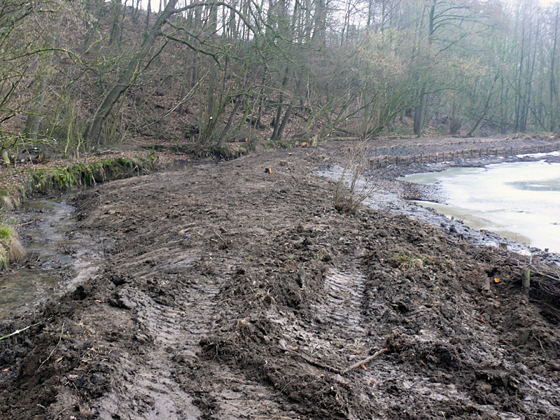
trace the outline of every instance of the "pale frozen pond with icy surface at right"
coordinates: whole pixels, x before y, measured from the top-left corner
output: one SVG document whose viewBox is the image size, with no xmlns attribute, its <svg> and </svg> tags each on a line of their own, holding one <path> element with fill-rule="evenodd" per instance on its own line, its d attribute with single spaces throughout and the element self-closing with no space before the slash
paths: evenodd
<svg viewBox="0 0 560 420">
<path fill-rule="evenodd" d="M 470 228 L 560 253 L 560 163 L 451 168 L 402 180 L 436 183 L 447 195 L 447 204 L 419 204 L 461 219 Z"/>
</svg>

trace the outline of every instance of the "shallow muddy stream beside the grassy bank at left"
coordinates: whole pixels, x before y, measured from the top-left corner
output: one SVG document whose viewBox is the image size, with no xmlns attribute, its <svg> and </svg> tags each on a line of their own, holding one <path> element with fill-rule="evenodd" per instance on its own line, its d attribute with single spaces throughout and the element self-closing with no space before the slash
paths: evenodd
<svg viewBox="0 0 560 420">
<path fill-rule="evenodd" d="M 64 202 L 45 199 L 28 200 L 13 212 L 22 221 L 20 240 L 27 255 L 0 279 L 0 319 L 32 311 L 97 271 L 99 259 L 88 255 L 84 238 L 68 237 L 73 210 Z"/>
</svg>

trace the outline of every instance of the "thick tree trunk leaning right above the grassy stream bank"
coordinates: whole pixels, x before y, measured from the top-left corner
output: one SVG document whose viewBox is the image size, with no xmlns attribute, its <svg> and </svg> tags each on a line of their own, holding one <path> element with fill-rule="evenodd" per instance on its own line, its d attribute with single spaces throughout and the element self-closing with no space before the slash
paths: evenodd
<svg viewBox="0 0 560 420">
<path fill-rule="evenodd" d="M 144 58 L 151 52 L 153 45 L 155 44 L 155 39 L 161 33 L 162 26 L 167 22 L 167 20 L 175 13 L 175 5 L 178 0 L 169 0 L 165 10 L 161 15 L 158 15 L 158 19 L 155 21 L 153 27 L 144 35 L 144 41 L 138 52 L 134 55 L 132 60 L 125 66 L 123 72 L 120 73 L 120 77 L 117 83 L 103 98 L 103 102 L 95 111 L 92 123 L 90 125 L 90 130 L 87 132 L 85 140 L 86 141 L 97 141 L 97 146 L 100 145 L 101 132 L 103 130 L 103 125 L 106 118 L 111 113 L 113 106 L 116 104 L 120 95 L 122 95 L 125 90 L 128 89 L 130 84 L 138 76 L 138 71 L 140 65 Z"/>
</svg>

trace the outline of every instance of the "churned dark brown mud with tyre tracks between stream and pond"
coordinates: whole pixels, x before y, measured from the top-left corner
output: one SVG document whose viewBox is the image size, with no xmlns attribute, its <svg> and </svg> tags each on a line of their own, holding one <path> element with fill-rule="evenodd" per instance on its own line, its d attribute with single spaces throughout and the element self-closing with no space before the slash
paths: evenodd
<svg viewBox="0 0 560 420">
<path fill-rule="evenodd" d="M 0 418 L 560 419 L 559 310 L 521 293 L 527 258 L 335 211 L 314 171 L 347 148 L 77 195 L 69 235 L 102 264 L 2 322 L 31 326 L 0 340 Z"/>
</svg>

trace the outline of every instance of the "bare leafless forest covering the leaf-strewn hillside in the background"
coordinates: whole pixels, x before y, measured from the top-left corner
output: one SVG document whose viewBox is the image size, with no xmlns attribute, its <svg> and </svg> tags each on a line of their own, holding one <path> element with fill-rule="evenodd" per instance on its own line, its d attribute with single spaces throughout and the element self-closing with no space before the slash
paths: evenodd
<svg viewBox="0 0 560 420">
<path fill-rule="evenodd" d="M 559 3 L 155 1 L 1 2 L 3 155 L 559 129 Z"/>
</svg>

